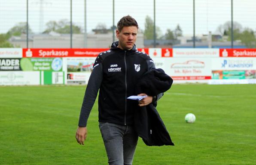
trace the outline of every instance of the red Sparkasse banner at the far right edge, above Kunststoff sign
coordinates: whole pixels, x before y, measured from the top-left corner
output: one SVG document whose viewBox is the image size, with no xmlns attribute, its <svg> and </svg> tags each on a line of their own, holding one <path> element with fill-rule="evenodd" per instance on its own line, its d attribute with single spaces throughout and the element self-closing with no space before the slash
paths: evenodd
<svg viewBox="0 0 256 165">
<path fill-rule="evenodd" d="M 219 49 L 220 57 L 256 57 L 256 49 Z"/>
</svg>

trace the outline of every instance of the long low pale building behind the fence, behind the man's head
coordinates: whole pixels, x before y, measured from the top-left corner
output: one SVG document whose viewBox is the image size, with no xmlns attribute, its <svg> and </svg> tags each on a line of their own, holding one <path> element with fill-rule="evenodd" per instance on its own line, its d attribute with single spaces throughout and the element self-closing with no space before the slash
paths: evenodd
<svg viewBox="0 0 256 165">
<path fill-rule="evenodd" d="M 144 47 L 143 34 L 137 35 L 136 47 Z M 73 34 L 72 48 L 85 48 L 85 35 Z M 27 35 L 12 36 L 9 42 L 15 47 L 27 47 Z M 87 45 L 89 48 L 107 48 L 113 41 L 113 34 L 87 34 Z M 116 38 L 116 41 L 118 39 Z M 70 34 L 59 34 L 50 32 L 49 34 L 30 34 L 28 47 L 30 48 L 70 48 Z"/>
</svg>

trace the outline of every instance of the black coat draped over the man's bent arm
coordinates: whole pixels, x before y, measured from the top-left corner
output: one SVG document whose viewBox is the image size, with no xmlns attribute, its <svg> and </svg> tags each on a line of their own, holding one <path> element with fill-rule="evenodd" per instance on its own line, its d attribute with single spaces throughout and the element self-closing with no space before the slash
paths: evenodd
<svg viewBox="0 0 256 165">
<path fill-rule="evenodd" d="M 171 88 L 173 80 L 162 69 L 147 72 L 138 80 L 135 91 L 155 96 Z M 174 145 L 155 106 L 150 103 L 139 107 L 134 113 L 134 127 L 148 146 Z"/>
</svg>

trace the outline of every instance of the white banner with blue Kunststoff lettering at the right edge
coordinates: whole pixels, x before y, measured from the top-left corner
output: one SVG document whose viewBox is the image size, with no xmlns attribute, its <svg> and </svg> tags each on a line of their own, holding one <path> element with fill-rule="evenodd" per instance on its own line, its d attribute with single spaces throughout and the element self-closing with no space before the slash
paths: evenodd
<svg viewBox="0 0 256 165">
<path fill-rule="evenodd" d="M 212 70 L 256 70 L 256 58 L 212 58 Z"/>
</svg>

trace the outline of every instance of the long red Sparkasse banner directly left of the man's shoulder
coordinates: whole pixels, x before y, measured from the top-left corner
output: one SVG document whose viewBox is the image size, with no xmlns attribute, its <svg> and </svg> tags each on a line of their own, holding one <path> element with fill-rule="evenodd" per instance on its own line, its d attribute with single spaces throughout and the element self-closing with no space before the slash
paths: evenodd
<svg viewBox="0 0 256 165">
<path fill-rule="evenodd" d="M 31 48 L 23 49 L 23 57 L 96 57 L 99 53 L 109 50 L 109 48 Z"/>
</svg>

